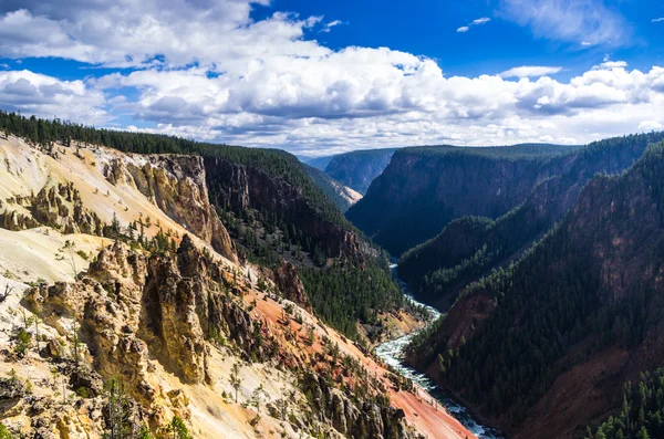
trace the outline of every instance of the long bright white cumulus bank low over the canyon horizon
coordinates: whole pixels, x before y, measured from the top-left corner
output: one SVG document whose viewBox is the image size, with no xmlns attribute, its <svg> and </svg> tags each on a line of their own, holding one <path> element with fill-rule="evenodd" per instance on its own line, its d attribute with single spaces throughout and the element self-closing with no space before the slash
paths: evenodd
<svg viewBox="0 0 664 439">
<path fill-rule="evenodd" d="M 291 65 L 292 64 L 292 65 Z M 548 76 L 443 75 L 435 62 L 386 49 L 349 48 L 238 80 L 205 70 L 147 70 L 90 86 L 136 87 L 122 103 L 151 132 L 293 151 L 454 143 L 584 143 L 664 123 L 664 69 Z M 640 127 L 641 126 L 641 127 Z M 650 125 L 654 126 L 654 125 Z"/>
</svg>

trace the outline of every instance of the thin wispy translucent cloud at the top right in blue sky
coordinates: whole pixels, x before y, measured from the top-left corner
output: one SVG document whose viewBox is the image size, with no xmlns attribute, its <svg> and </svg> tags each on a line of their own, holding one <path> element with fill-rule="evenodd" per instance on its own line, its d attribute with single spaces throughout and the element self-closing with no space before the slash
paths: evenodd
<svg viewBox="0 0 664 439">
<path fill-rule="evenodd" d="M 583 46 L 621 45 L 630 39 L 630 25 L 603 0 L 500 1 L 502 18 L 530 28 L 538 38 Z"/>
</svg>

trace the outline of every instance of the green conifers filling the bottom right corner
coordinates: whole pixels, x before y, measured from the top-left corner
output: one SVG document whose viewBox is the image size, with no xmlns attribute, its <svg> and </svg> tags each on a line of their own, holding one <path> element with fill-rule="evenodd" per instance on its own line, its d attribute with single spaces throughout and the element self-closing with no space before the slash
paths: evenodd
<svg viewBox="0 0 664 439">
<path fill-rule="evenodd" d="M 584 439 L 664 438 L 664 368 L 641 374 L 637 385 L 627 383 L 620 411 Z"/>
</svg>

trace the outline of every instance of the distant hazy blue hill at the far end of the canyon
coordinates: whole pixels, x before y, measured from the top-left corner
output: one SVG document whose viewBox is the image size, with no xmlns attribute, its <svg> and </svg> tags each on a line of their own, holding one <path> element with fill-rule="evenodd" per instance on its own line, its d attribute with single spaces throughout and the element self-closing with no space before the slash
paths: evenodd
<svg viewBox="0 0 664 439">
<path fill-rule="evenodd" d="M 366 149 L 333 156 L 325 174 L 344 186 L 366 194 L 371 182 L 383 173 L 396 149 Z"/>
</svg>

